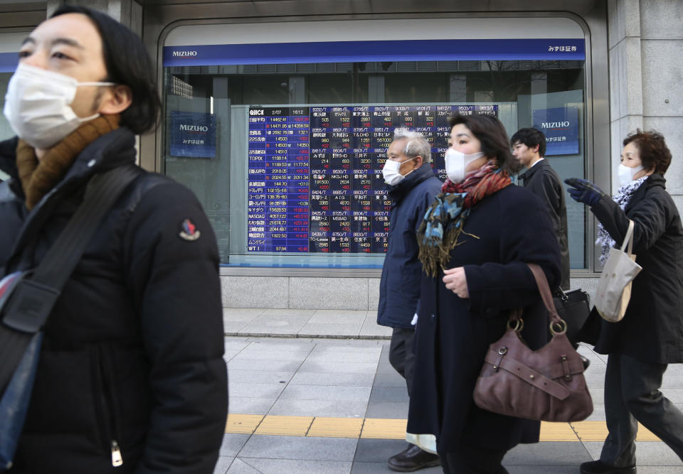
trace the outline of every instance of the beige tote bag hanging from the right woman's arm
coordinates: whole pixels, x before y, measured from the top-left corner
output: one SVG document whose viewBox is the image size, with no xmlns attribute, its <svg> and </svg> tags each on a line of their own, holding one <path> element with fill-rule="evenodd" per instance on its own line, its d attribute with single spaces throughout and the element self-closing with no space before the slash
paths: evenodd
<svg viewBox="0 0 683 474">
<path fill-rule="evenodd" d="M 628 245 L 628 249 L 627 249 Z M 627 249 L 624 252 L 624 249 Z M 628 231 L 621 249 L 610 249 L 603 274 L 600 275 L 598 291 L 595 294 L 595 309 L 605 321 L 616 323 L 626 313 L 631 298 L 631 282 L 640 273 L 642 266 L 635 263 L 633 252 L 633 221 L 628 221 Z"/>
</svg>

